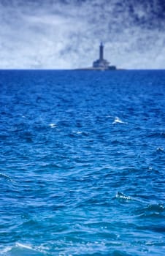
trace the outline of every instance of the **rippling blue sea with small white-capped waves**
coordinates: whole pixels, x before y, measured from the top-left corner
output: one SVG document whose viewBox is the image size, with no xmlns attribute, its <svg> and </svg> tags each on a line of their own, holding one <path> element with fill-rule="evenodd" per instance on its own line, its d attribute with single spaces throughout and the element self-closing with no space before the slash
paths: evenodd
<svg viewBox="0 0 165 256">
<path fill-rule="evenodd" d="M 0 255 L 164 255 L 165 70 L 0 70 Z"/>
</svg>

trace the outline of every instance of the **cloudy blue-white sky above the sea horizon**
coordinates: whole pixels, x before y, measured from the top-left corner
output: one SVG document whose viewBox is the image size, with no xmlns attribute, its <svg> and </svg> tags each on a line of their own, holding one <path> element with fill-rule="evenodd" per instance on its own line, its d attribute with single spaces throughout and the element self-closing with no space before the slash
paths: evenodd
<svg viewBox="0 0 165 256">
<path fill-rule="evenodd" d="M 164 0 L 0 0 L 0 69 L 165 69 Z"/>
</svg>

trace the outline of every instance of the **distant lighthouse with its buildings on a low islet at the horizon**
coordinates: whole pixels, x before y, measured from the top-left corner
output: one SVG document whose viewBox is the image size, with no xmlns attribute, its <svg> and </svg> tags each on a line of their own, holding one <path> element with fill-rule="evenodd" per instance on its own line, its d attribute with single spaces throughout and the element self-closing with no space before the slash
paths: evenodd
<svg viewBox="0 0 165 256">
<path fill-rule="evenodd" d="M 110 66 L 110 62 L 104 59 L 104 45 L 101 42 L 99 46 L 99 59 L 93 61 L 92 67 L 84 67 L 78 70 L 116 70 L 115 66 Z"/>
</svg>

